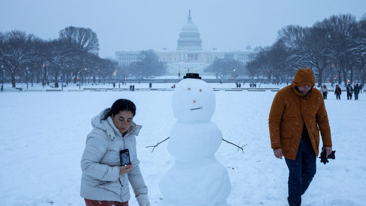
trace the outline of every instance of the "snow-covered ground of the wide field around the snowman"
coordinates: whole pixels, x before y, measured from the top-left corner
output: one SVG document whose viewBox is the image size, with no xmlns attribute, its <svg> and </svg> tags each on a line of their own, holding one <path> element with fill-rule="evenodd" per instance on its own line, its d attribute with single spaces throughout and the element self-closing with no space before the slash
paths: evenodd
<svg viewBox="0 0 366 206">
<path fill-rule="evenodd" d="M 153 84 L 153 88 L 170 88 L 172 85 Z M 4 86 L 5 89 L 11 88 L 10 84 Z M 26 84 L 22 86 L 26 88 Z M 137 83 L 135 86 L 148 88 L 147 84 L 139 86 Z M 234 84 L 211 86 L 234 88 Z M 35 87 L 41 88 L 40 85 Z M 245 87 L 249 84 L 246 83 Z M 283 86 L 262 84 L 261 88 L 264 87 Z M 76 89 L 76 85 L 70 88 Z M 330 85 L 328 88 L 331 89 Z M 152 205 L 161 205 L 164 199 L 158 182 L 174 164 L 174 158 L 167 151 L 167 142 L 161 143 L 153 153 L 146 146 L 169 137 L 176 121 L 171 107 L 172 93 L 0 93 L 0 204 L 85 205 L 79 196 L 80 160 L 86 136 L 92 129 L 90 119 L 110 107 L 116 99 L 125 98 L 136 104 L 134 121 L 143 126 L 136 138 L 137 153 L 150 201 Z M 212 122 L 219 126 L 225 140 L 248 144 L 243 154 L 223 142 L 215 154 L 228 169 L 232 189 L 227 202 L 232 206 L 287 205 L 288 169 L 284 159 L 274 157 L 268 131 L 268 115 L 275 94 L 270 90 L 215 92 L 216 111 Z M 359 100 L 355 101 L 347 100 L 346 92 L 343 92 L 341 98 L 336 100 L 334 92 L 329 92 L 325 100 L 336 159 L 329 160 L 326 165 L 317 159 L 317 174 L 302 196 L 305 206 L 365 205 L 366 163 L 362 159 L 366 153 L 363 123 L 366 94 L 360 93 Z M 130 205 L 138 205 L 135 198 L 130 200 Z"/>
</svg>

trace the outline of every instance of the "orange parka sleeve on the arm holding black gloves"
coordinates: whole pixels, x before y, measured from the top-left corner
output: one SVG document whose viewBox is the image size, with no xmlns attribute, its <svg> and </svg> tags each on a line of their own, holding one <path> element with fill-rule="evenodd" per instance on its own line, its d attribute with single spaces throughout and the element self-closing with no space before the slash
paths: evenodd
<svg viewBox="0 0 366 206">
<path fill-rule="evenodd" d="M 325 110 L 324 99 L 319 99 L 322 101 L 322 103 L 315 117 L 320 130 L 321 139 L 323 141 L 323 147 L 332 147 L 332 138 L 330 136 L 329 120 L 328 114 Z"/>
</svg>

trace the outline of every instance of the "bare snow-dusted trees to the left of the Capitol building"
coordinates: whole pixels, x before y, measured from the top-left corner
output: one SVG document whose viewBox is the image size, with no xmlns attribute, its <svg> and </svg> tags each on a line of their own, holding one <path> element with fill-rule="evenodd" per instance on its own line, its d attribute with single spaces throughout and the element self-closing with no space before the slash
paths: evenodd
<svg viewBox="0 0 366 206">
<path fill-rule="evenodd" d="M 98 52 L 97 34 L 90 28 L 69 26 L 60 30 L 58 38 L 50 40 L 20 30 L 0 32 L 0 72 L 7 79 L 10 77 L 13 88 L 17 78 L 33 86 L 33 82 L 46 84 L 61 79 L 67 84 L 76 84 L 78 80 L 121 81 L 123 77 L 148 77 L 165 72 L 164 63 L 158 61 L 152 50 L 142 51 L 139 62 L 129 66 L 100 58 Z"/>
</svg>

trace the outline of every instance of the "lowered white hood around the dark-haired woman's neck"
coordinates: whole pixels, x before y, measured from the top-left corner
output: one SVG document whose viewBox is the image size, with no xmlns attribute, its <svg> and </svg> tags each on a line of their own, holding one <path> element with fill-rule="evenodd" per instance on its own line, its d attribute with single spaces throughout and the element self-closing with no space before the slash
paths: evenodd
<svg viewBox="0 0 366 206">
<path fill-rule="evenodd" d="M 91 126 L 93 126 L 94 129 L 105 130 L 108 134 L 116 133 L 117 135 L 120 135 L 121 133 L 113 124 L 111 118 L 108 121 L 110 112 L 111 108 L 106 108 L 102 110 L 97 116 L 91 118 Z M 134 121 L 132 121 L 131 127 L 126 131 L 126 135 L 128 133 L 131 133 L 132 135 L 138 136 L 138 133 L 140 132 L 141 128 L 142 128 L 141 125 L 137 125 Z"/>
</svg>

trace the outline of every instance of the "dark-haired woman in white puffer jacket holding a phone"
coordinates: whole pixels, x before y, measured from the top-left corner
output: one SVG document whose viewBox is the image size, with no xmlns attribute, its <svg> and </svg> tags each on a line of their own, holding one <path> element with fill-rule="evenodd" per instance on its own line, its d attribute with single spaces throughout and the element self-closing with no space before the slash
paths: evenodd
<svg viewBox="0 0 366 206">
<path fill-rule="evenodd" d="M 128 206 L 130 190 L 134 190 L 139 206 L 150 206 L 136 154 L 136 139 L 142 126 L 133 118 L 136 107 L 127 99 L 118 99 L 93 119 L 93 130 L 86 138 L 81 159 L 80 196 L 87 206 Z M 120 166 L 119 152 L 128 149 L 131 165 Z"/>
</svg>

